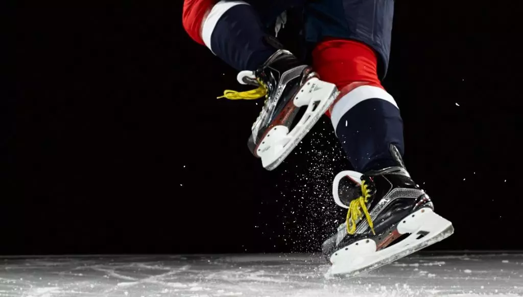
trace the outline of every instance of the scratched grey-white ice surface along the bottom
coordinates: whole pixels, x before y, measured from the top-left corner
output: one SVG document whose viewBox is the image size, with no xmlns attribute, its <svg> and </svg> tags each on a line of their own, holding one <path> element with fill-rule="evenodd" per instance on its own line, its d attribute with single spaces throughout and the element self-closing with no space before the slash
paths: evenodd
<svg viewBox="0 0 523 297">
<path fill-rule="evenodd" d="M 0 296 L 521 296 L 523 254 L 415 254 L 353 279 L 319 255 L 4 257 Z"/>
</svg>

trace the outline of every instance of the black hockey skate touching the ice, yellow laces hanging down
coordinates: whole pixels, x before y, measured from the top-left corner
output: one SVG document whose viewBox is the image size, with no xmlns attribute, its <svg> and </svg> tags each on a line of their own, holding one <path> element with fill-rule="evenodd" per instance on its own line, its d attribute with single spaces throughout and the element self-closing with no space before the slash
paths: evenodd
<svg viewBox="0 0 523 297">
<path fill-rule="evenodd" d="M 398 163 L 365 174 L 342 171 L 334 179 L 336 204 L 348 209 L 347 220 L 323 243 L 332 266 L 326 276 L 353 277 L 444 240 L 452 223 L 434 212 L 429 196 Z"/>
</svg>

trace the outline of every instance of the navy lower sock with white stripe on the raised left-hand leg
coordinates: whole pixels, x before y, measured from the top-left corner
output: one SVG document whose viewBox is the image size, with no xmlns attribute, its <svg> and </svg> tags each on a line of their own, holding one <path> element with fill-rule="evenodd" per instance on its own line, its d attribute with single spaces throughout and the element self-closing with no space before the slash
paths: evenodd
<svg viewBox="0 0 523 297">
<path fill-rule="evenodd" d="M 276 48 L 265 41 L 256 11 L 243 1 L 220 1 L 203 23 L 202 39 L 209 49 L 236 70 L 256 70 Z"/>
</svg>

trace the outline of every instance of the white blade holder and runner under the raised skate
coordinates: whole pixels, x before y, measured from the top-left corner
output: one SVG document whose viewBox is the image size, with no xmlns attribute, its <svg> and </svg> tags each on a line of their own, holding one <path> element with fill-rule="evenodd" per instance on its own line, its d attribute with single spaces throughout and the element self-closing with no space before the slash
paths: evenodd
<svg viewBox="0 0 523 297">
<path fill-rule="evenodd" d="M 336 85 L 316 77 L 304 82 L 283 111 L 288 112 L 307 105 L 305 113 L 298 123 L 290 131 L 285 125 L 275 125 L 259 142 L 256 155 L 261 158 L 261 164 L 265 169 L 273 170 L 287 158 L 331 106 L 337 93 Z"/>
</svg>

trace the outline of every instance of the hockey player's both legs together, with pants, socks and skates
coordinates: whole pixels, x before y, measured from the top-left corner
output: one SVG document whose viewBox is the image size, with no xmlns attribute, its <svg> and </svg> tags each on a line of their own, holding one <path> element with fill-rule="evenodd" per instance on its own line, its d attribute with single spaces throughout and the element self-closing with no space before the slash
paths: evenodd
<svg viewBox="0 0 523 297">
<path fill-rule="evenodd" d="M 322 245 L 326 276 L 371 271 L 454 232 L 406 170 L 400 110 L 381 85 L 393 8 L 393 0 L 184 1 L 190 37 L 238 70 L 240 84 L 256 87 L 218 98 L 265 99 L 247 139 L 265 169 L 276 169 L 323 115 L 330 118 L 355 171 L 333 182 L 347 215 Z M 288 11 L 300 16 L 302 57 L 276 39 Z"/>
</svg>

